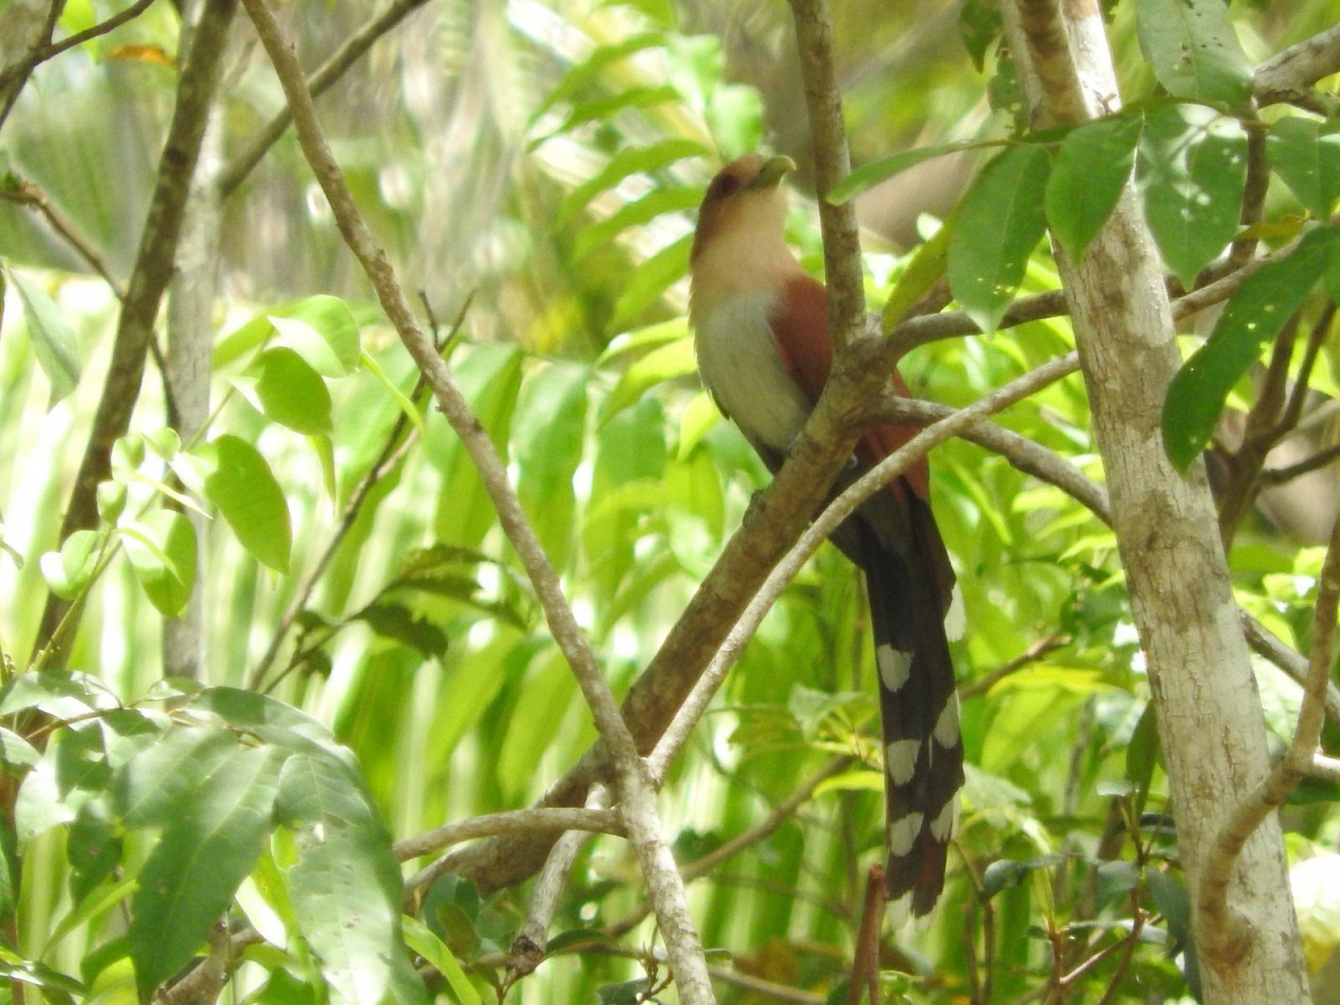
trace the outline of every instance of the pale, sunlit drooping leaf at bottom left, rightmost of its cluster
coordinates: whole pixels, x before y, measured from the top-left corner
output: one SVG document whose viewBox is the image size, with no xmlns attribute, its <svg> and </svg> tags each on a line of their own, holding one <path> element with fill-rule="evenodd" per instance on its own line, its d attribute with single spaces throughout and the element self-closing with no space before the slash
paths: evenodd
<svg viewBox="0 0 1340 1005">
<path fill-rule="evenodd" d="M 293 756 L 279 787 L 276 812 L 296 831 L 297 862 L 287 872 L 293 914 L 332 1000 L 379 1002 L 405 953 L 401 875 L 386 828 L 328 757 Z M 423 997 L 418 986 L 411 1001 Z"/>
</svg>

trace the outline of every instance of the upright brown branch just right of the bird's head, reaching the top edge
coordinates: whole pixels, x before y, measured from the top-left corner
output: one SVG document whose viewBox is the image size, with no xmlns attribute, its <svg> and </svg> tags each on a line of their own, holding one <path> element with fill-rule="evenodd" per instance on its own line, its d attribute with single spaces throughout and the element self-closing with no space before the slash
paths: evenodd
<svg viewBox="0 0 1340 1005">
<path fill-rule="evenodd" d="M 815 153 L 815 188 L 819 192 L 819 226 L 824 237 L 824 276 L 828 281 L 828 331 L 840 352 L 851 340 L 866 310 L 860 268 L 860 236 L 856 205 L 827 200 L 851 173 L 851 151 L 842 115 L 842 92 L 833 67 L 833 31 L 825 0 L 791 0 L 800 55 L 800 78 L 809 110 L 809 139 Z"/>
</svg>

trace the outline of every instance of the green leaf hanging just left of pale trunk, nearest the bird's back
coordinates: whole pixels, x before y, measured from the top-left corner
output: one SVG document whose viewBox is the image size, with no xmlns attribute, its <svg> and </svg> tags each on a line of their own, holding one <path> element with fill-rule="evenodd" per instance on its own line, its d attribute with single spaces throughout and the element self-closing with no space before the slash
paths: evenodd
<svg viewBox="0 0 1340 1005">
<path fill-rule="evenodd" d="M 1047 229 L 1043 193 L 1051 159 L 1040 146 L 1013 146 L 990 161 L 963 196 L 949 243 L 949 285 L 973 322 L 992 334 L 1024 280 Z"/>
</svg>

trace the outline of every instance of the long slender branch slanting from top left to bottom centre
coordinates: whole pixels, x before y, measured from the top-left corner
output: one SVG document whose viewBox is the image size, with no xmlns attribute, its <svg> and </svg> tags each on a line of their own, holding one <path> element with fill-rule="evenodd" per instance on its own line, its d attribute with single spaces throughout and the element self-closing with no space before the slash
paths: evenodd
<svg viewBox="0 0 1340 1005">
<path fill-rule="evenodd" d="M 619 714 L 619 706 L 600 671 L 595 653 L 578 626 L 572 608 L 563 595 L 559 576 L 549 564 L 535 529 L 521 509 L 521 503 L 508 481 L 507 468 L 503 465 L 493 441 L 489 440 L 486 430 L 470 411 L 469 403 L 456 386 L 446 363 L 438 356 L 431 339 L 419 327 L 395 276 L 395 269 L 386 253 L 377 247 L 358 205 L 354 202 L 354 196 L 348 190 L 344 176 L 331 154 L 330 145 L 316 119 L 316 107 L 307 90 L 292 43 L 284 38 L 264 0 L 243 0 L 243 3 L 256 25 L 261 44 L 275 64 L 275 71 L 293 111 L 297 141 L 326 193 L 340 234 L 362 264 L 377 291 L 382 310 L 386 311 L 405 347 L 423 371 L 440 407 L 474 461 L 480 480 L 497 511 L 498 521 L 535 586 L 553 641 L 567 658 L 578 679 L 578 686 L 591 708 L 596 729 L 610 750 L 619 816 L 623 819 L 628 829 L 628 839 L 638 852 L 681 1001 L 689 1005 L 713 1002 L 712 982 L 708 978 L 702 945 L 689 917 L 683 882 L 661 833 L 655 796 L 646 766 Z"/>
</svg>

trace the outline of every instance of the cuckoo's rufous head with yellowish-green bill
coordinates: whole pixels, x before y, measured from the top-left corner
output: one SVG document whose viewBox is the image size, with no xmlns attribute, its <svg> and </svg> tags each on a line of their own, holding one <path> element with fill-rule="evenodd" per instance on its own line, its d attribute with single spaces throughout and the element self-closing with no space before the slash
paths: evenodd
<svg viewBox="0 0 1340 1005">
<path fill-rule="evenodd" d="M 780 182 L 793 170 L 789 157 L 745 154 L 717 172 L 698 209 L 693 259 L 724 237 L 784 241 L 787 198 Z"/>
</svg>

